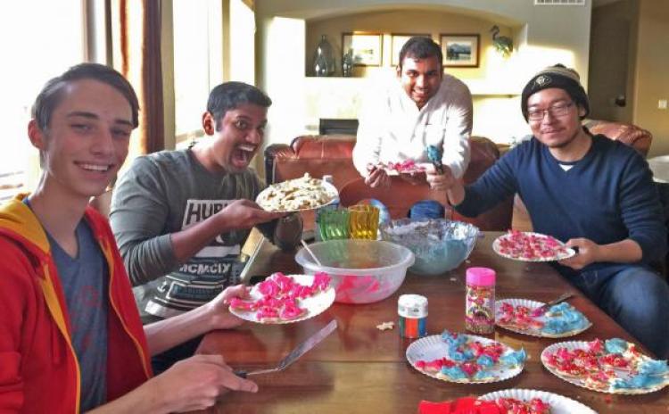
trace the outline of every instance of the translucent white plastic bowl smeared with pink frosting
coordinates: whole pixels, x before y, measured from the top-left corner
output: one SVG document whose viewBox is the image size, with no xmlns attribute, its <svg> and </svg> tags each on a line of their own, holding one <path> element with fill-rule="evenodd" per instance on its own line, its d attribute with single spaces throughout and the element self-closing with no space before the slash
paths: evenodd
<svg viewBox="0 0 669 414">
<path fill-rule="evenodd" d="M 326 272 L 335 287 L 335 302 L 371 303 L 384 300 L 401 286 L 414 254 L 399 244 L 382 240 L 328 240 L 310 244 L 318 261 L 301 249 L 295 254 L 304 272 Z"/>
</svg>

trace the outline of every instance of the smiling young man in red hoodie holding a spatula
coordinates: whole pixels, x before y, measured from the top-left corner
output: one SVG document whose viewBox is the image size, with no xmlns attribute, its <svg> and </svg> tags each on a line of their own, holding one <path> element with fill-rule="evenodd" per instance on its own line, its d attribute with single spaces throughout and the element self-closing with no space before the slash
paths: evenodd
<svg viewBox="0 0 669 414">
<path fill-rule="evenodd" d="M 197 310 L 142 327 L 106 219 L 88 207 L 128 154 L 138 104 L 126 79 L 83 63 L 37 96 L 28 133 L 37 190 L 0 207 L 0 411 L 175 412 L 225 390 L 257 391 L 218 355 L 152 378 L 150 354 L 240 323 L 228 288 Z"/>
</svg>

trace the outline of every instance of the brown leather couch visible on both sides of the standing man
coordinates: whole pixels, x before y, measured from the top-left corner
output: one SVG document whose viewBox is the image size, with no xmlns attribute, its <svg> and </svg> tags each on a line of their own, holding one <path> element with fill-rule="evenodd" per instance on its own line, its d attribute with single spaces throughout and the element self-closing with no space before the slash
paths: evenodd
<svg viewBox="0 0 669 414">
<path fill-rule="evenodd" d="M 341 190 L 343 186 L 353 180 L 359 179 L 358 170 L 353 166 L 352 151 L 355 146 L 355 137 L 350 135 L 331 135 L 331 136 L 303 136 L 296 137 L 290 145 L 273 144 L 265 149 L 265 174 L 266 181 L 271 183 L 281 182 L 285 179 L 299 178 L 305 172 L 309 172 L 312 177 L 320 178 L 325 174 L 330 174 L 334 178 L 335 186 Z M 500 158 L 500 151 L 490 139 L 485 137 L 472 137 L 470 140 L 471 161 L 465 172 L 464 181 L 466 184 L 474 181 L 484 170 Z M 407 192 L 390 191 L 384 196 L 394 196 L 399 200 L 404 198 L 405 202 L 413 202 L 408 199 Z M 429 192 L 425 190 L 424 194 Z M 369 192 L 368 194 L 372 194 Z M 411 191 L 418 195 L 418 191 Z M 379 198 L 370 196 L 368 198 Z M 439 197 L 425 196 L 426 198 L 438 199 Z M 420 200 L 417 198 L 415 201 Z M 343 201 L 344 202 L 344 201 Z M 382 200 L 383 202 L 383 200 Z M 460 219 L 474 223 L 482 230 L 507 230 L 511 226 L 512 199 L 500 203 L 495 209 L 481 214 L 475 219 L 464 218 L 452 211 L 453 219 Z M 408 204 L 410 205 L 410 204 Z M 407 207 L 408 209 L 409 207 Z M 394 211 L 401 211 L 395 209 Z M 311 216 L 305 216 L 305 227 L 308 225 Z"/>
</svg>

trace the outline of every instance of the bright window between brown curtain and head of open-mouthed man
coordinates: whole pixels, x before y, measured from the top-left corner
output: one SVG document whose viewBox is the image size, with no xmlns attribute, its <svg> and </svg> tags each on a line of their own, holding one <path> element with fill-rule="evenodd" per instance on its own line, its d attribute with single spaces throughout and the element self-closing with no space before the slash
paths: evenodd
<svg viewBox="0 0 669 414">
<path fill-rule="evenodd" d="M 220 1 L 173 3 L 174 95 L 177 147 L 202 137 L 202 112 L 223 80 Z"/>
</svg>

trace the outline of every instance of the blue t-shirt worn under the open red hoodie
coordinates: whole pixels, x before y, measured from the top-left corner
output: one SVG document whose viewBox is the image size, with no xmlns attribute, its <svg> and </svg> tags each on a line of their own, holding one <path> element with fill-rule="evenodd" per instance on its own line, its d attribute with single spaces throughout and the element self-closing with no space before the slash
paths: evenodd
<svg viewBox="0 0 669 414">
<path fill-rule="evenodd" d="M 24 203 L 30 205 L 28 198 Z M 77 257 L 66 253 L 48 232 L 46 236 L 70 317 L 81 372 L 81 411 L 92 410 L 107 400 L 107 264 L 85 219 L 76 229 Z"/>
</svg>

